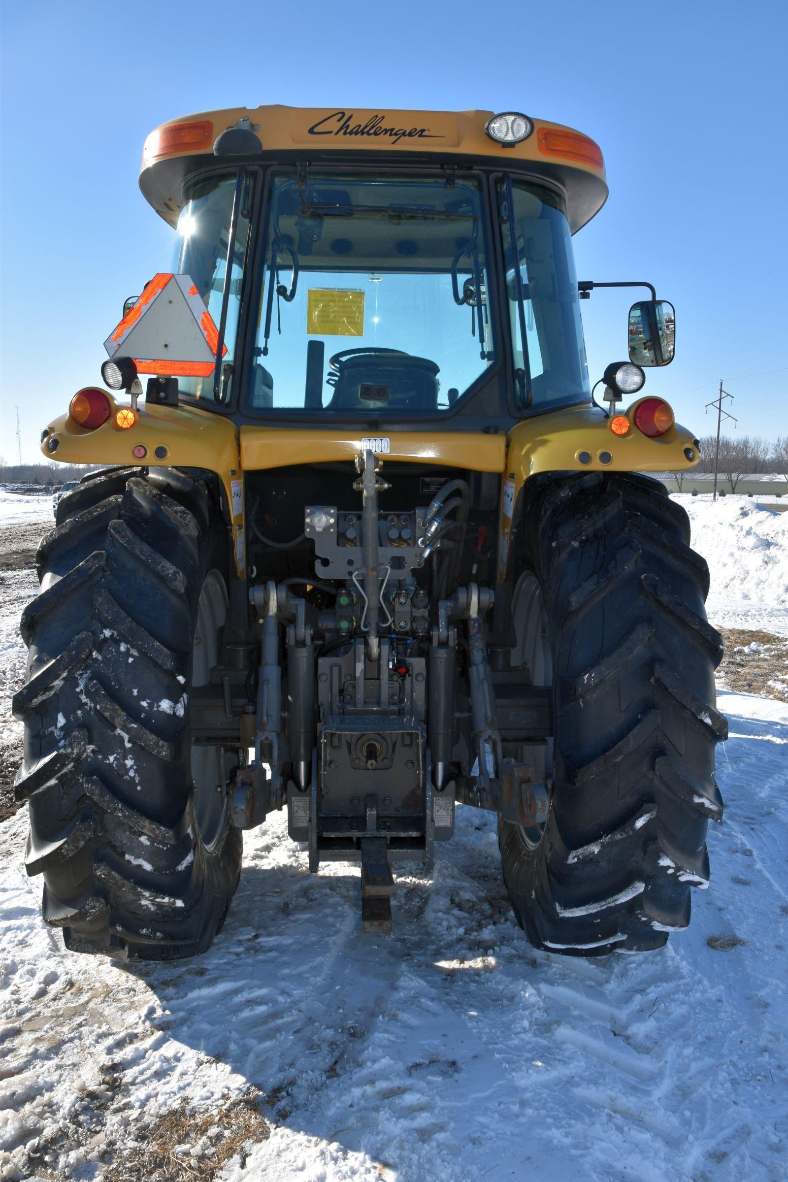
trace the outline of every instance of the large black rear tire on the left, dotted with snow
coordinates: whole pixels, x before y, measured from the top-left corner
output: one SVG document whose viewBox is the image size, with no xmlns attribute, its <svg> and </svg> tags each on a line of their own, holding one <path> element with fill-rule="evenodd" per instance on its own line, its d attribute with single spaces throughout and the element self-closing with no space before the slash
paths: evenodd
<svg viewBox="0 0 788 1182">
<path fill-rule="evenodd" d="M 61 498 L 14 714 L 27 872 L 66 948 L 165 960 L 204 952 L 237 886 L 241 834 L 189 697 L 217 663 L 224 526 L 206 485 L 111 469 Z"/>
</svg>

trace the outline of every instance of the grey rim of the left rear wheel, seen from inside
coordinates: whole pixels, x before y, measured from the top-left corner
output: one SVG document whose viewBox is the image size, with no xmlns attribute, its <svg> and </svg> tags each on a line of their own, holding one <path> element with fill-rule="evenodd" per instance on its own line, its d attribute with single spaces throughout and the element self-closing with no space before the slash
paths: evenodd
<svg viewBox="0 0 788 1182">
<path fill-rule="evenodd" d="M 210 682 L 210 671 L 219 664 L 219 629 L 227 619 L 227 587 L 219 571 L 210 571 L 200 592 L 197 624 L 194 634 L 191 689 Z M 194 814 L 200 839 L 213 849 L 224 832 L 228 801 L 222 785 L 219 747 L 191 743 L 191 782 Z"/>
</svg>

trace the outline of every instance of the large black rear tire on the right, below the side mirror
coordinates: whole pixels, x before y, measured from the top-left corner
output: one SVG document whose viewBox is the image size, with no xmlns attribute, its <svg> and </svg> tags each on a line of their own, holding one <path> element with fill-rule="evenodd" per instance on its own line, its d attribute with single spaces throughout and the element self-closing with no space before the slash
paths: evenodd
<svg viewBox="0 0 788 1182">
<path fill-rule="evenodd" d="M 500 824 L 503 876 L 538 948 L 640 952 L 690 920 L 722 816 L 714 748 L 722 655 L 689 520 L 647 478 L 535 478 L 513 561 L 515 654 L 553 687 L 541 826 Z"/>
</svg>

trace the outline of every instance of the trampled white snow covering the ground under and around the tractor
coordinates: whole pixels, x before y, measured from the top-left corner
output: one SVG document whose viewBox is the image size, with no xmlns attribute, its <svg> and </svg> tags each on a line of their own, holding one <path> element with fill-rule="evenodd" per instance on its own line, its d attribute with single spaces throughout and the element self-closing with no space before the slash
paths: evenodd
<svg viewBox="0 0 788 1182">
<path fill-rule="evenodd" d="M 766 626 L 748 622 L 770 612 L 776 630 L 788 514 L 680 500 L 712 619 Z M 0 651 L 18 671 L 33 579 L 0 587 Z M 44 927 L 18 813 L 0 830 L 0 1178 L 782 1182 L 788 706 L 723 691 L 719 708 L 711 888 L 690 929 L 646 956 L 534 952 L 491 818 L 461 807 L 432 877 L 396 871 L 392 936 L 362 936 L 358 868 L 310 875 L 274 814 L 245 836 L 210 952 L 122 967 Z M 226 1115 L 249 1096 L 267 1130 L 217 1174 L 219 1116 L 198 1135 L 184 1118 L 168 1169 L 132 1174 L 180 1103 Z"/>
</svg>

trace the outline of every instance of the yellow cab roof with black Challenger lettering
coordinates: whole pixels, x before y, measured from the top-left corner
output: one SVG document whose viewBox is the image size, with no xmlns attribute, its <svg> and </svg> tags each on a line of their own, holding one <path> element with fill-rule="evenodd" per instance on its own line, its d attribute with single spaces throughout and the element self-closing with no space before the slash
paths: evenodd
<svg viewBox="0 0 788 1182">
<path fill-rule="evenodd" d="M 229 128 L 245 128 L 260 143 L 254 152 L 227 157 L 247 161 L 327 164 L 359 158 L 390 167 L 484 164 L 542 177 L 566 194 L 572 233 L 585 226 L 607 199 L 605 164 L 598 145 L 560 123 L 529 117 L 530 135 L 503 145 L 486 131 L 493 111 L 390 111 L 360 108 L 235 106 L 171 119 L 148 136 L 139 188 L 154 209 L 175 226 L 182 186 L 201 165 L 216 161 L 214 143 Z M 217 161 L 216 161 L 217 162 Z"/>
</svg>

